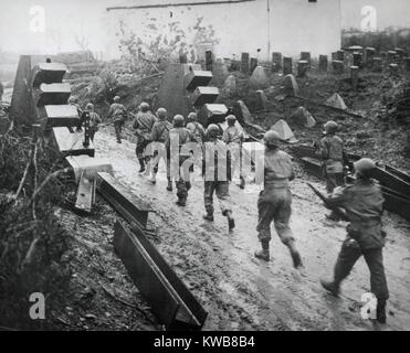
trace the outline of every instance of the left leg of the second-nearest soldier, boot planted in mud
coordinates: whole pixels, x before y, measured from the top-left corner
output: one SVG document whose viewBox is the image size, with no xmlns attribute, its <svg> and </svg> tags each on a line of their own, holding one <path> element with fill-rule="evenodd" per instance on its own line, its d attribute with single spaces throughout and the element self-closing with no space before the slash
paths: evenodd
<svg viewBox="0 0 410 353">
<path fill-rule="evenodd" d="M 270 202 L 266 190 L 262 191 L 257 199 L 257 238 L 262 244 L 262 250 L 255 253 L 255 257 L 265 261 L 270 260 L 269 243 L 271 242 L 271 223 L 275 214 L 275 205 Z"/>
</svg>

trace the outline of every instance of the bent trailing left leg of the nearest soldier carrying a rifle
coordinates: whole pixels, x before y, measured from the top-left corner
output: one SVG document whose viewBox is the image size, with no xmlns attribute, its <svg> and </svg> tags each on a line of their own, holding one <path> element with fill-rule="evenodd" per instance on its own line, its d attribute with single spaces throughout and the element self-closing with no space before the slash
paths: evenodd
<svg viewBox="0 0 410 353">
<path fill-rule="evenodd" d="M 351 268 L 361 256 L 361 249 L 359 244 L 348 237 L 341 245 L 340 253 L 337 257 L 334 279 L 333 280 L 320 280 L 322 286 L 332 292 L 334 296 L 338 296 L 340 291 L 341 281 L 349 276 Z"/>
</svg>

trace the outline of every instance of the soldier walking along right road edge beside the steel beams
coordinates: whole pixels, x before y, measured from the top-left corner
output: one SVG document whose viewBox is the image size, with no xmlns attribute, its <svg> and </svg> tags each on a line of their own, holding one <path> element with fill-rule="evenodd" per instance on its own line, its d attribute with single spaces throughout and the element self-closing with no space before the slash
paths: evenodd
<svg viewBox="0 0 410 353">
<path fill-rule="evenodd" d="M 317 156 L 323 160 L 323 173 L 326 178 L 326 191 L 332 194 L 335 188 L 344 185 L 344 162 L 347 160 L 343 140 L 336 136 L 337 124 L 327 121 L 324 125 L 325 137 L 320 140 Z M 326 215 L 332 221 L 339 218 L 335 213 Z"/>
</svg>

